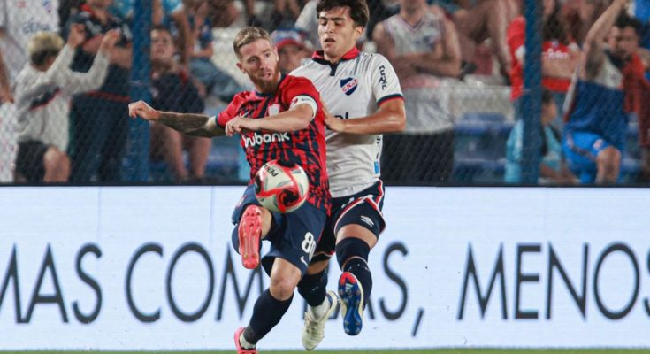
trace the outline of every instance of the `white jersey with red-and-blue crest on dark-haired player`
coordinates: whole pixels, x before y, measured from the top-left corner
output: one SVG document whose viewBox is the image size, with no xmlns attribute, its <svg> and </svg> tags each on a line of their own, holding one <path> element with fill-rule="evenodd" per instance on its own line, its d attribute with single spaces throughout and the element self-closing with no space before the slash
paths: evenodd
<svg viewBox="0 0 650 354">
<path fill-rule="evenodd" d="M 327 110 L 340 119 L 363 118 L 391 99 L 403 99 L 400 82 L 386 58 L 350 50 L 338 65 L 317 52 L 294 76 L 310 79 Z M 352 135 L 327 130 L 327 173 L 333 197 L 349 196 L 379 180 L 382 135 Z"/>
</svg>

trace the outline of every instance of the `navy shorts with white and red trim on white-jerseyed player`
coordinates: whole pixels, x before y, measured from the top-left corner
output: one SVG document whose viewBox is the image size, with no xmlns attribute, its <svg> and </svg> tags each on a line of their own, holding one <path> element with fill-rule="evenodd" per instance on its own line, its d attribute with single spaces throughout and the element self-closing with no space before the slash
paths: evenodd
<svg viewBox="0 0 650 354">
<path fill-rule="evenodd" d="M 332 212 L 316 246 L 314 260 L 332 257 L 336 247 L 336 234 L 346 225 L 365 227 L 379 237 L 386 227 L 384 215 L 381 213 L 383 207 L 384 183 L 381 180 L 354 195 L 332 198 Z"/>
</svg>

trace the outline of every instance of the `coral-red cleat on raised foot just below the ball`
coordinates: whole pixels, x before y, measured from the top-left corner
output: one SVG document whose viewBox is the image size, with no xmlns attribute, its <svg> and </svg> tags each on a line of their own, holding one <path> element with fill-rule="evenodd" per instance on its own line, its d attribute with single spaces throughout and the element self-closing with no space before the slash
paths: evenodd
<svg viewBox="0 0 650 354">
<path fill-rule="evenodd" d="M 262 211 L 257 205 L 246 207 L 237 229 L 241 264 L 248 269 L 259 265 L 259 242 L 262 236 Z"/>
</svg>

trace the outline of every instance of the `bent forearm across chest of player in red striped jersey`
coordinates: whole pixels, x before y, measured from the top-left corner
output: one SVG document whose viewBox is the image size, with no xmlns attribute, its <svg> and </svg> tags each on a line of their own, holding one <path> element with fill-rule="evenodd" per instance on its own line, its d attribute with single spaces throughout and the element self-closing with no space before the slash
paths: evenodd
<svg viewBox="0 0 650 354">
<path fill-rule="evenodd" d="M 302 130 L 310 125 L 314 111 L 309 104 L 297 104 L 288 111 L 264 119 L 235 117 L 226 123 L 226 135 L 241 133 L 242 130 L 267 130 L 277 133 Z"/>
</svg>

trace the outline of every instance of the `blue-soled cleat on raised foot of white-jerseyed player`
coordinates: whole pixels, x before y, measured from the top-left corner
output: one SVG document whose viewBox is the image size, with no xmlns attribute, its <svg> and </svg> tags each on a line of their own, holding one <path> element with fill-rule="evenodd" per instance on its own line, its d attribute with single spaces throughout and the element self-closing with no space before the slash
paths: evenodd
<svg viewBox="0 0 650 354">
<path fill-rule="evenodd" d="M 363 327 L 363 289 L 355 274 L 340 274 L 339 296 L 343 330 L 348 335 L 358 335 Z"/>
</svg>

